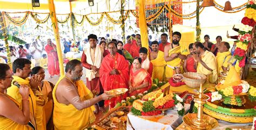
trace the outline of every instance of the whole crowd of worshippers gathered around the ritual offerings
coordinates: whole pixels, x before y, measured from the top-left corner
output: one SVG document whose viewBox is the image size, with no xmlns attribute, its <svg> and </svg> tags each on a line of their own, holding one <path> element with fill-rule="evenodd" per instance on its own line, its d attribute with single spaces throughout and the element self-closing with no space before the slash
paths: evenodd
<svg viewBox="0 0 256 130">
<path fill-rule="evenodd" d="M 216 83 L 218 75 L 228 71 L 230 44 L 221 41 L 220 36 L 216 44 L 205 35 L 205 42 L 188 47 L 179 43 L 179 32 L 173 32 L 171 43 L 167 39 L 163 33 L 161 42 L 150 41 L 146 48 L 142 47 L 139 34 L 128 35 L 126 44 L 116 39 L 99 41 L 97 35 L 90 34 L 89 44 L 78 44 L 82 59 L 66 63 L 65 75 L 55 85 L 44 80 L 45 65 L 41 64 L 48 59 L 49 74 L 59 75 L 57 50 L 51 39 L 47 45 L 35 40 L 31 49 L 12 48 L 16 57 L 12 69 L 0 63 L 0 129 L 52 129 L 53 124 L 56 129 L 83 129 L 95 121 L 99 111 L 105 112 L 106 107 L 114 107 L 126 96 L 149 90 L 154 78 L 169 81 L 174 74 L 197 72 L 206 75 L 208 82 Z M 69 52 L 72 45 L 65 39 L 63 43 L 64 53 Z M 35 64 L 28 60 L 29 54 Z M 43 54 L 44 61 L 39 54 Z M 84 68 L 86 85 L 81 80 Z M 122 97 L 105 92 L 118 88 L 129 92 Z"/>
</svg>

